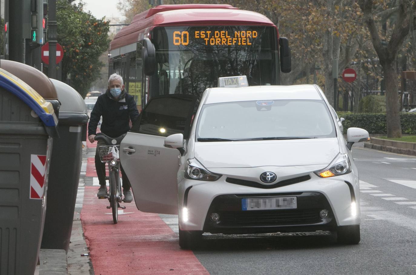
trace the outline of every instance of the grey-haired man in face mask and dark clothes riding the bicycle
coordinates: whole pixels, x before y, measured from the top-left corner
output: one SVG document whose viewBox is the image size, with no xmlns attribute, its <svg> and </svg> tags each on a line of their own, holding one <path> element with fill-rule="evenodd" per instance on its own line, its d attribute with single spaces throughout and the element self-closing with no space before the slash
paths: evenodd
<svg viewBox="0 0 416 275">
<path fill-rule="evenodd" d="M 107 91 L 98 97 L 92 109 L 88 124 L 88 140 L 91 143 L 94 143 L 101 116 L 103 118 L 101 132 L 113 138 L 126 134 L 130 130 L 129 121 L 134 121 L 139 116 L 136 102 L 130 94 L 127 94 L 123 78 L 119 74 L 111 74 Z M 95 168 L 100 183 L 97 196 L 104 197 L 107 195 L 105 163 L 100 160 L 98 147 L 95 152 Z M 121 178 L 123 179 L 124 202 L 130 203 L 133 201 L 133 194 L 123 167 L 121 167 Z"/>
</svg>

